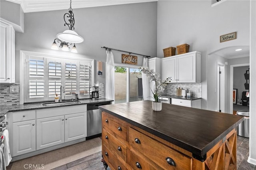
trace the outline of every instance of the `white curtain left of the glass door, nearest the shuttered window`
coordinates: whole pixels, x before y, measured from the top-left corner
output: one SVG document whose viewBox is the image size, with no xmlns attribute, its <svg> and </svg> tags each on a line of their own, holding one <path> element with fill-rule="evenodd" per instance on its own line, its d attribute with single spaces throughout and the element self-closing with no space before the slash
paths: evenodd
<svg viewBox="0 0 256 170">
<path fill-rule="evenodd" d="M 115 82 L 115 65 L 114 65 L 114 55 L 112 51 L 106 50 L 106 99 L 115 100 L 114 95 L 114 82 Z M 112 102 L 114 103 L 114 102 Z"/>
</svg>

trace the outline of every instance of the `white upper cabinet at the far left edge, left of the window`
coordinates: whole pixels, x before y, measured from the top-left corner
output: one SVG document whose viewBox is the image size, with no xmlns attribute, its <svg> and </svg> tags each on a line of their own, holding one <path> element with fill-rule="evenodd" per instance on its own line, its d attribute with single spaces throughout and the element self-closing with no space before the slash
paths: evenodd
<svg viewBox="0 0 256 170">
<path fill-rule="evenodd" d="M 0 83 L 15 83 L 15 31 L 0 20 Z"/>
</svg>

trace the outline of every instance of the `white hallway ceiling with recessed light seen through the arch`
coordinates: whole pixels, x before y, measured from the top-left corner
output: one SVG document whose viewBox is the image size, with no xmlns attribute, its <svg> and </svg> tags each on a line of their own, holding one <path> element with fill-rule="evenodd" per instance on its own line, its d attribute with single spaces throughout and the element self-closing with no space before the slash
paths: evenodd
<svg viewBox="0 0 256 170">
<path fill-rule="evenodd" d="M 240 51 L 236 51 L 236 49 L 242 49 Z M 240 58 L 240 57 L 249 57 L 250 56 L 250 46 L 249 45 L 240 45 L 240 46 L 232 46 L 222 48 L 215 52 L 217 55 L 221 57 L 225 57 L 226 59 Z"/>
</svg>

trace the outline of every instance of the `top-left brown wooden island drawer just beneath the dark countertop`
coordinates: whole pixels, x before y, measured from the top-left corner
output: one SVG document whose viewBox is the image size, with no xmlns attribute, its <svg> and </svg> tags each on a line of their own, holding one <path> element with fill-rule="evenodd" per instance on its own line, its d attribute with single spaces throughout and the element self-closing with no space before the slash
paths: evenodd
<svg viewBox="0 0 256 170">
<path fill-rule="evenodd" d="M 112 135 L 114 135 L 115 138 L 127 140 L 126 124 L 106 115 L 105 112 L 102 112 L 102 127 L 114 132 Z"/>
</svg>

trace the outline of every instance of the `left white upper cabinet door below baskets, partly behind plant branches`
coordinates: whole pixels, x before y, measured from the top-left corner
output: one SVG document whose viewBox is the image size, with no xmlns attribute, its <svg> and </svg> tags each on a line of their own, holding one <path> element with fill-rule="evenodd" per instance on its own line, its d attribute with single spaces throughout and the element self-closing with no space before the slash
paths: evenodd
<svg viewBox="0 0 256 170">
<path fill-rule="evenodd" d="M 177 57 L 162 59 L 162 77 L 161 81 L 172 77 L 170 83 L 177 82 Z"/>
</svg>

